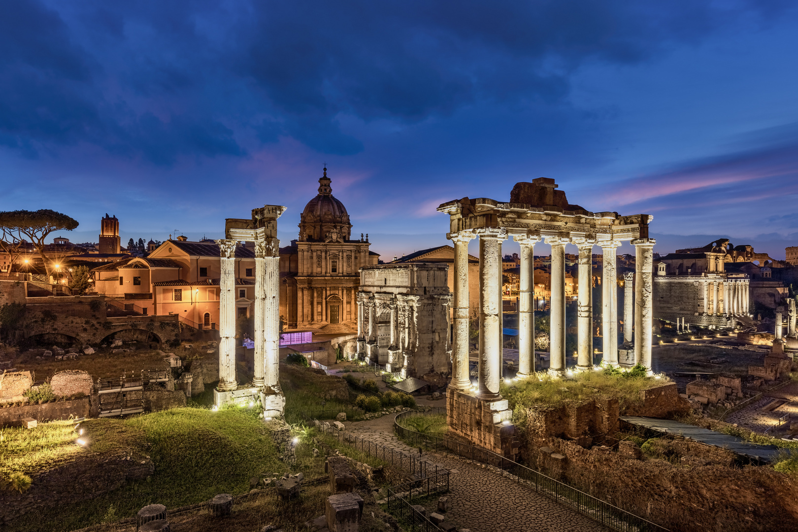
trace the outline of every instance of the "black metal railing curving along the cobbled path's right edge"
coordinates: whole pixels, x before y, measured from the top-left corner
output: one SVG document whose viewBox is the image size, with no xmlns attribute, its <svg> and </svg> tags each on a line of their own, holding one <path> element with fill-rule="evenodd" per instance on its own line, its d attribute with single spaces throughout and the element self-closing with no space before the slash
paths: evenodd
<svg viewBox="0 0 798 532">
<path fill-rule="evenodd" d="M 421 432 L 417 432 L 412 428 L 402 427 L 398 423 L 399 420 L 410 415 L 421 414 L 433 416 L 440 414 L 445 415 L 445 413 L 446 408 L 444 407 L 432 408 L 426 412 L 400 412 L 393 420 L 393 429 L 397 432 L 397 436 L 400 439 L 405 440 L 405 443 L 409 443 L 413 445 L 413 447 L 424 445 L 426 447 L 432 447 L 437 451 L 449 452 L 474 462 L 484 463 L 494 470 L 499 471 L 501 475 L 508 476 L 518 483 L 531 487 L 538 493 L 547 495 L 556 502 L 573 508 L 590 518 L 594 518 L 596 521 L 602 523 L 602 525 L 609 526 L 614 530 L 620 530 L 621 532 L 668 530 L 623 510 L 622 508 L 618 508 L 618 506 L 614 506 L 609 502 L 597 499 L 584 491 L 579 491 L 566 483 L 543 475 L 543 473 L 539 471 L 522 466 L 502 455 L 497 455 L 495 452 L 488 451 L 488 449 L 477 447 L 470 443 L 461 443 L 455 439 L 421 434 Z"/>
</svg>

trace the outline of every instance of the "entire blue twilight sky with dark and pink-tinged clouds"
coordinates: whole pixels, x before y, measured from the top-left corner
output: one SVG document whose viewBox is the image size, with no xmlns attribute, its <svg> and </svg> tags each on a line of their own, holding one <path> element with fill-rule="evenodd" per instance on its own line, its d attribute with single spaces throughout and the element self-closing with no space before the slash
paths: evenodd
<svg viewBox="0 0 798 532">
<path fill-rule="evenodd" d="M 0 52 L 0 210 L 73 241 L 105 212 L 123 242 L 218 238 L 263 203 L 291 238 L 325 162 L 384 258 L 539 176 L 654 215 L 660 251 L 798 240 L 795 2 L 31 0 Z"/>
</svg>

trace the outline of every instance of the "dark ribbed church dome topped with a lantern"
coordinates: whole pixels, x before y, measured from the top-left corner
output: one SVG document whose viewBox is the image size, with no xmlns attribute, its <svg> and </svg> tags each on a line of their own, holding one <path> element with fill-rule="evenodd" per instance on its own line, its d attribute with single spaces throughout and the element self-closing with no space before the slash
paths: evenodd
<svg viewBox="0 0 798 532">
<path fill-rule="evenodd" d="M 332 194 L 331 179 L 318 179 L 318 195 L 311 199 L 299 217 L 299 240 L 302 242 L 336 242 L 350 238 L 352 224 L 346 207 Z"/>
</svg>

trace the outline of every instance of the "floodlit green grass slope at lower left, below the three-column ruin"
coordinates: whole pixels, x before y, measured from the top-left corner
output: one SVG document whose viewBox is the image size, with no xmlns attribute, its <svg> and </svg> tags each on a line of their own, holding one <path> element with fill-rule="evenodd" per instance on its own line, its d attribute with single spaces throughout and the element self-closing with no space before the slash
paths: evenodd
<svg viewBox="0 0 798 532">
<path fill-rule="evenodd" d="M 41 424 L 31 432 L 43 429 L 39 439 L 4 432 L 2 467 L 8 471 L 30 472 L 76 449 L 103 453 L 120 446 L 132 447 L 155 463 L 147 480 L 68 507 L 26 514 L 5 530 L 74 530 L 130 517 L 151 503 L 174 508 L 219 493 L 249 491 L 251 477 L 289 470 L 277 459 L 266 426 L 253 413 L 239 408 L 174 408 L 126 420 L 86 420 L 81 426 L 91 442 L 89 451 L 76 447 L 61 424 Z"/>
</svg>

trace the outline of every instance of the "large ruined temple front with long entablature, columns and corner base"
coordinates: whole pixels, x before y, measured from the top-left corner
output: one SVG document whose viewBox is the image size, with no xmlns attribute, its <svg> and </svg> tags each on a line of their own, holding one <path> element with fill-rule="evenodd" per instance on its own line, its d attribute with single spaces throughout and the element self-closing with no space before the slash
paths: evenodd
<svg viewBox="0 0 798 532">
<path fill-rule="evenodd" d="M 511 238 L 521 247 L 519 294 L 519 376 L 534 371 L 534 311 L 532 283 L 534 247 L 551 246 L 551 362 L 549 372 L 566 372 L 565 246 L 579 249 L 577 368 L 593 369 L 593 301 L 591 254 L 602 248 L 603 363 L 618 365 L 618 301 L 616 248 L 621 242 L 635 247 L 634 361 L 651 369 L 653 238 L 650 215 L 622 216 L 617 212 L 590 212 L 567 202 L 554 179 L 516 183 L 509 202 L 496 199 L 456 199 L 437 210 L 449 215 L 447 238 L 455 248 L 454 338 L 452 381 L 447 394 L 448 425 L 475 443 L 504 455 L 512 449 L 512 410 L 502 399 L 502 254 Z M 476 390 L 468 376 L 468 242 L 480 238 L 479 372 Z M 587 287 L 587 290 L 585 290 Z M 631 346 L 630 346 L 631 347 Z"/>
</svg>

